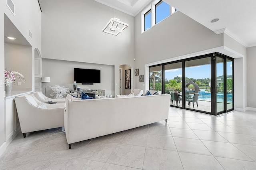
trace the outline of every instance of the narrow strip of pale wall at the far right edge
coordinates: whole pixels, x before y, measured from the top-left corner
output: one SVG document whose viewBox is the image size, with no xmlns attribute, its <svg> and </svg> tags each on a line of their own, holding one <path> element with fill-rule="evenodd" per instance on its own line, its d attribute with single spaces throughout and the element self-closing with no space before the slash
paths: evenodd
<svg viewBox="0 0 256 170">
<path fill-rule="evenodd" d="M 255 63 L 256 63 L 256 46 L 247 48 L 247 107 L 256 111 L 256 78 L 255 78 Z"/>
</svg>

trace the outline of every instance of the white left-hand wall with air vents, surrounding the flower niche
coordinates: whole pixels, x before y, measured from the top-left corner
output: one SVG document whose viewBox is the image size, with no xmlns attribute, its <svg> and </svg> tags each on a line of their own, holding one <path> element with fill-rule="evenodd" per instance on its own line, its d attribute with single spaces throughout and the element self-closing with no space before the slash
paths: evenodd
<svg viewBox="0 0 256 170">
<path fill-rule="evenodd" d="M 6 6 L 6 0 L 0 1 L 0 80 L 3 81 L 3 87 L 0 87 L 0 155 L 6 150 L 5 142 L 5 127 L 4 127 L 4 14 L 18 28 L 20 33 L 32 45 L 32 49 L 38 48 L 41 50 L 41 12 L 36 0 L 12 0 L 15 4 L 15 16 Z M 32 32 L 32 40 L 28 37 L 28 28 Z M 12 29 L 12 28 L 8 28 Z M 32 50 L 32 63 L 34 62 L 34 50 Z M 28 63 L 21 61 L 19 63 L 26 67 Z M 30 63 L 31 64 L 31 63 Z M 34 74 L 34 65 L 32 73 Z M 15 70 L 15 68 L 14 68 Z M 34 78 L 32 77 L 32 87 Z"/>
</svg>

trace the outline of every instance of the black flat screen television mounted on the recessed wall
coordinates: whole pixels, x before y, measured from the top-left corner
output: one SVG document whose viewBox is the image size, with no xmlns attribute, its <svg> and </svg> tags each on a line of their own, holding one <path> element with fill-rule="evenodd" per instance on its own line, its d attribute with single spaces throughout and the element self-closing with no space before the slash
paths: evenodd
<svg viewBox="0 0 256 170">
<path fill-rule="evenodd" d="M 74 68 L 76 83 L 100 83 L 100 70 Z"/>
</svg>

